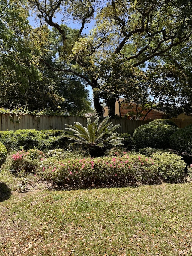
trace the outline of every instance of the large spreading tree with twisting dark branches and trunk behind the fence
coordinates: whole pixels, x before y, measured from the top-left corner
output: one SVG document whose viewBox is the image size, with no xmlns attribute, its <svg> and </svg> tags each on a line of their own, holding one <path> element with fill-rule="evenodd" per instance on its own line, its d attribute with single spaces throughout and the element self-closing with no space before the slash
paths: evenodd
<svg viewBox="0 0 192 256">
<path fill-rule="evenodd" d="M 130 72 L 131 67 L 147 68 L 147 62 L 155 62 L 172 49 L 188 42 L 192 34 L 191 1 L 28 0 L 28 2 L 37 14 L 40 24 L 46 23 L 51 26 L 60 38 L 59 47 L 55 49 L 55 54 L 59 56 L 57 65 L 47 63 L 44 58 L 42 61 L 52 71 L 75 74 L 91 85 L 94 106 L 100 116 L 103 115 L 103 110 L 99 95 L 103 84 L 109 86 L 106 102 L 112 110 L 111 116 L 114 115 L 114 90 L 121 85 L 117 84 L 118 81 L 114 83 L 110 74 L 117 75 L 118 59 L 125 66 L 124 73 L 117 75 L 121 83 L 123 80 L 133 81 L 135 75 Z M 61 24 L 55 21 L 58 14 L 62 17 Z M 92 20 L 95 21 L 95 26 L 86 33 L 85 28 Z M 70 22 L 76 23 L 79 30 L 71 30 L 69 33 L 66 26 Z M 114 65 L 111 62 L 107 63 L 107 60 L 111 59 L 116 60 Z M 107 77 L 98 72 L 102 65 L 106 71 L 110 71 Z M 127 72 L 125 72 L 126 67 Z M 124 78 L 122 78 L 123 74 Z"/>
</svg>

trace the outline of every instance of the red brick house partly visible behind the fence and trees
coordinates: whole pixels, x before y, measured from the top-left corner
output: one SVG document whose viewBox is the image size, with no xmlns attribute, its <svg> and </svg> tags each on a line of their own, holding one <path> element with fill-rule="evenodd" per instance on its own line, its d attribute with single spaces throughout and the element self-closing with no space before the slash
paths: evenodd
<svg viewBox="0 0 192 256">
<path fill-rule="evenodd" d="M 119 100 L 123 101 L 124 98 L 119 98 Z M 138 107 L 138 112 L 140 110 L 141 109 Z M 130 111 L 134 111 L 134 112 L 136 111 L 136 104 L 133 103 L 133 102 L 126 102 L 126 101 L 122 102 L 121 107 L 120 107 L 120 111 L 121 111 L 122 117 L 127 116 L 128 119 L 135 119 L 136 118 L 136 116 L 128 115 L 128 113 L 130 113 Z M 142 111 L 142 116 L 139 117 L 139 119 L 143 120 L 146 113 L 147 113 L 147 110 Z M 119 103 L 117 101 L 116 101 L 115 114 L 119 116 Z M 104 108 L 104 116 L 108 116 L 108 108 L 107 107 Z M 153 109 L 148 113 L 145 120 L 154 120 L 154 119 L 161 119 L 161 118 L 170 118 L 170 115 L 166 114 L 164 109 L 161 109 L 161 110 Z"/>
</svg>

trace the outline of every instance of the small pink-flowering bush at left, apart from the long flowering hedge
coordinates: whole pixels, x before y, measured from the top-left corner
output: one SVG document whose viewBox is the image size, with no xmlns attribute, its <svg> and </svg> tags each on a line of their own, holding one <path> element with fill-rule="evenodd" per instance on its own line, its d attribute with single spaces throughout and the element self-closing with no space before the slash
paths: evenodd
<svg viewBox="0 0 192 256">
<path fill-rule="evenodd" d="M 44 153 L 38 149 L 21 150 L 8 159 L 9 169 L 17 172 L 34 173 L 44 159 Z"/>
</svg>

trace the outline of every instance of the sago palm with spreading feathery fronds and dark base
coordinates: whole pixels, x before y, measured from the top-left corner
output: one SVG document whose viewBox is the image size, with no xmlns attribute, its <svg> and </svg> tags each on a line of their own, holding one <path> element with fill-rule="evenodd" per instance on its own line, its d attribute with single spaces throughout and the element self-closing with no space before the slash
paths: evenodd
<svg viewBox="0 0 192 256">
<path fill-rule="evenodd" d="M 115 132 L 121 125 L 113 125 L 108 123 L 110 117 L 105 118 L 99 123 L 99 117 L 95 122 L 91 122 L 91 119 L 87 119 L 87 127 L 83 126 L 79 122 L 75 122 L 75 125 L 66 125 L 68 130 L 73 131 L 73 135 L 65 135 L 70 140 L 75 142 L 70 143 L 69 146 L 78 144 L 83 145 L 89 149 L 91 156 L 103 156 L 106 149 L 110 146 L 123 145 L 122 138 Z"/>
</svg>

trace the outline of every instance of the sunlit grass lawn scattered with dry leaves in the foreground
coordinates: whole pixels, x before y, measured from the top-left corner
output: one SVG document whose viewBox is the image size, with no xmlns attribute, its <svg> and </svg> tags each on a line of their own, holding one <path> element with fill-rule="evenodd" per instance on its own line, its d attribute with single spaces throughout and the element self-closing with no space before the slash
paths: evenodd
<svg viewBox="0 0 192 256">
<path fill-rule="evenodd" d="M 11 193 L 0 255 L 192 255 L 191 182 Z"/>
</svg>

